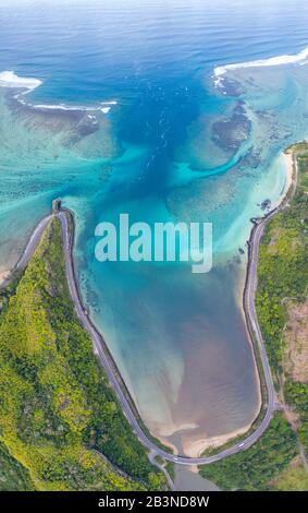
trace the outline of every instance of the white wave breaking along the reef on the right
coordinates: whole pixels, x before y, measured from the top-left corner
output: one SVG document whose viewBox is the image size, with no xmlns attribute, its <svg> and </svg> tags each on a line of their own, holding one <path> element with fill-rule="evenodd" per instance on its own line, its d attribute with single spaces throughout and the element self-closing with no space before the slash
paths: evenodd
<svg viewBox="0 0 308 513">
<path fill-rule="evenodd" d="M 269 59 L 260 59 L 260 60 L 252 60 L 247 62 L 235 62 L 234 64 L 225 64 L 225 65 L 218 65 L 214 69 L 214 79 L 215 85 L 220 84 L 221 77 L 226 71 L 229 70 L 238 70 L 241 68 L 261 68 L 261 67 L 269 67 L 269 65 L 282 65 L 282 64 L 297 64 L 300 65 L 305 64 L 308 59 L 308 47 L 304 48 L 304 50 L 295 53 L 293 56 L 278 56 L 278 57 L 270 57 Z"/>
</svg>

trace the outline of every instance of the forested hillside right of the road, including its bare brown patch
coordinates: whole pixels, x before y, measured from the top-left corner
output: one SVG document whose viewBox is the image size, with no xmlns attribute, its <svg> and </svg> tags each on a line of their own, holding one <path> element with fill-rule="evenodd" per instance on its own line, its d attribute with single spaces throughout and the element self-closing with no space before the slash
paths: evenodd
<svg viewBox="0 0 308 513">
<path fill-rule="evenodd" d="M 260 246 L 256 307 L 279 398 L 308 454 L 308 144 L 297 159 L 297 187 L 268 223 Z"/>
</svg>

